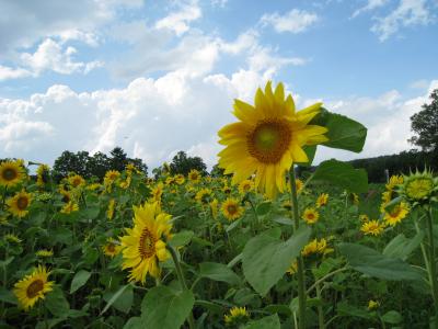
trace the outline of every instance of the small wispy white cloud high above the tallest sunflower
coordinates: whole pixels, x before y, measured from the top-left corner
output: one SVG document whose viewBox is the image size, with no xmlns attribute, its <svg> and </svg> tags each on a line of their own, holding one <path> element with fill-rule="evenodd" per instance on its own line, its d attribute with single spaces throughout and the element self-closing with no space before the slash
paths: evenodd
<svg viewBox="0 0 438 329">
<path fill-rule="evenodd" d="M 318 15 L 304 10 L 292 9 L 284 15 L 279 13 L 264 14 L 262 25 L 273 25 L 277 32 L 300 33 L 318 21 Z"/>
</svg>

